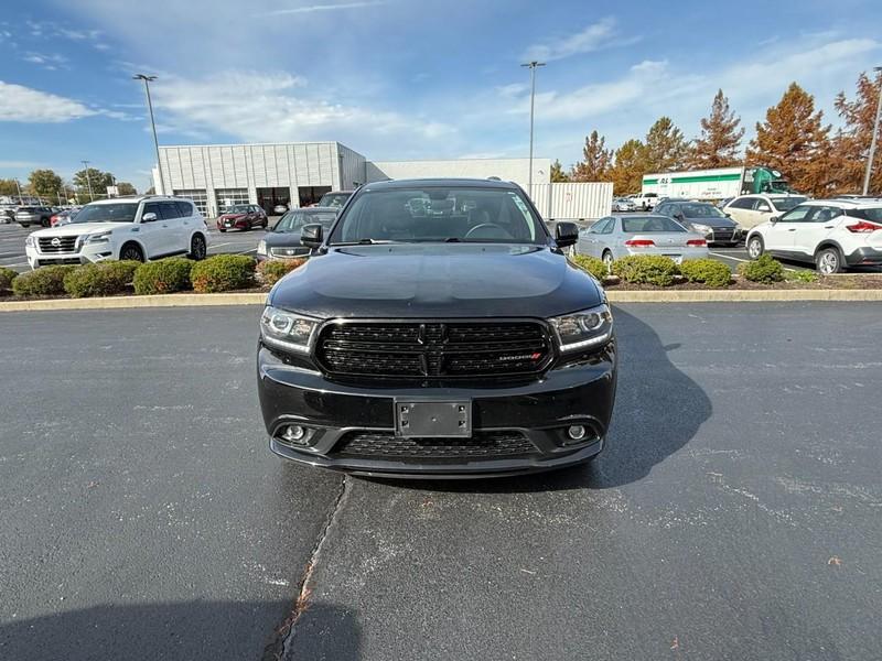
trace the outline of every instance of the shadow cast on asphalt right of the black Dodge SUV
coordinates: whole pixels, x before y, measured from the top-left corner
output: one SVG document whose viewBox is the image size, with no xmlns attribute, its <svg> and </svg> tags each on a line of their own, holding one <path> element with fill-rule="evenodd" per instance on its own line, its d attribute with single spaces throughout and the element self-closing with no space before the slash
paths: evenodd
<svg viewBox="0 0 882 661">
<path fill-rule="evenodd" d="M 646 477 L 654 466 L 689 443 L 712 413 L 701 387 L 670 360 L 684 344 L 663 345 L 637 316 L 614 310 L 619 387 L 606 447 L 591 464 L 520 477 L 478 480 L 376 480 L 438 491 L 531 492 L 606 489 Z"/>
</svg>

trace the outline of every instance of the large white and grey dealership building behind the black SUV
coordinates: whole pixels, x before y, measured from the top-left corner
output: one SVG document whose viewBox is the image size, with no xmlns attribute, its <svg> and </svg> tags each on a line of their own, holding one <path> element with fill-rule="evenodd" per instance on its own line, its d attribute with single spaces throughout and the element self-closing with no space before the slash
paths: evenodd
<svg viewBox="0 0 882 661">
<path fill-rule="evenodd" d="M 279 204 L 308 206 L 329 191 L 389 178 L 498 176 L 525 189 L 529 182 L 529 159 L 368 161 L 340 142 L 160 147 L 160 162 L 157 192 L 190 197 L 207 217 L 243 203 L 269 213 Z M 549 159 L 534 159 L 535 193 L 548 187 L 550 172 Z"/>
</svg>

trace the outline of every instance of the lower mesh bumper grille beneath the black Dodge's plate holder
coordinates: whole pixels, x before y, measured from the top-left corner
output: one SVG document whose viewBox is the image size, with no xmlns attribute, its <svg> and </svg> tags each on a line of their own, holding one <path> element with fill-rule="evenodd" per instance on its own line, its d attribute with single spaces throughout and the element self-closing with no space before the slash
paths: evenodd
<svg viewBox="0 0 882 661">
<path fill-rule="evenodd" d="M 469 438 L 402 438 L 394 432 L 349 432 L 332 453 L 337 457 L 390 460 L 494 459 L 537 454 L 515 431 L 475 432 Z"/>
</svg>

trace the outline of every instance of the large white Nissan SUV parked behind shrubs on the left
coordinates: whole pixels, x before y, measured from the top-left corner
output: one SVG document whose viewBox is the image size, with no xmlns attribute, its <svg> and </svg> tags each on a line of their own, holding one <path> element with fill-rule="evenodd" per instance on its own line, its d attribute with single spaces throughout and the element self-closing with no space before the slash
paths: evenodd
<svg viewBox="0 0 882 661">
<path fill-rule="evenodd" d="M 24 241 L 32 269 L 172 254 L 204 259 L 207 249 L 208 228 L 193 202 L 161 195 L 93 202 L 68 225 L 34 231 Z"/>
</svg>

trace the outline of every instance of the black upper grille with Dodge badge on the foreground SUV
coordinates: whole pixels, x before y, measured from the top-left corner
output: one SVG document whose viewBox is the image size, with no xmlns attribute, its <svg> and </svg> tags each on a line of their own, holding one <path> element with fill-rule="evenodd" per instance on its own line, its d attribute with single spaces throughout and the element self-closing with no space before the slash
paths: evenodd
<svg viewBox="0 0 882 661">
<path fill-rule="evenodd" d="M 524 376 L 550 358 L 538 322 L 341 322 L 325 326 L 316 343 L 322 368 L 341 376 Z"/>
</svg>

